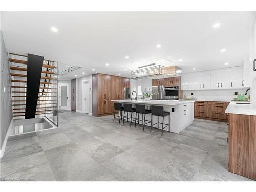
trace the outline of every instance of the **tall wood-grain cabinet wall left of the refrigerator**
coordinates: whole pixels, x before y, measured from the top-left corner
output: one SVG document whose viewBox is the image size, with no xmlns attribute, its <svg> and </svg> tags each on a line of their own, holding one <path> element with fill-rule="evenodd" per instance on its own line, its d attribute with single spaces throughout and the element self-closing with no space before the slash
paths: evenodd
<svg viewBox="0 0 256 192">
<path fill-rule="evenodd" d="M 123 99 L 123 88 L 130 88 L 130 78 L 106 74 L 92 75 L 93 116 L 114 113 L 111 100 Z"/>
</svg>

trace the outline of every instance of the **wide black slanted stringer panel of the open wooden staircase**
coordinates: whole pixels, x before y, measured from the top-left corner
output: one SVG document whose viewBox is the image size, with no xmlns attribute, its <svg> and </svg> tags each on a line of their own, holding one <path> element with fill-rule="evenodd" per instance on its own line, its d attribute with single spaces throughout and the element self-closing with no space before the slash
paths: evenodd
<svg viewBox="0 0 256 192">
<path fill-rule="evenodd" d="M 44 57 L 28 54 L 25 119 L 35 118 Z"/>
</svg>

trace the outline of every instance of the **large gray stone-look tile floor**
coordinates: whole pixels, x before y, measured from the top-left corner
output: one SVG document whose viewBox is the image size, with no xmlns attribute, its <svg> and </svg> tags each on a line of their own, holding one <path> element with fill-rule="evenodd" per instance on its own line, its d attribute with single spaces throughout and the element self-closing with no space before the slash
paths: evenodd
<svg viewBox="0 0 256 192">
<path fill-rule="evenodd" d="M 59 113 L 59 127 L 9 137 L 1 178 L 36 181 L 248 181 L 228 172 L 227 125 L 195 119 L 180 134 Z"/>
</svg>

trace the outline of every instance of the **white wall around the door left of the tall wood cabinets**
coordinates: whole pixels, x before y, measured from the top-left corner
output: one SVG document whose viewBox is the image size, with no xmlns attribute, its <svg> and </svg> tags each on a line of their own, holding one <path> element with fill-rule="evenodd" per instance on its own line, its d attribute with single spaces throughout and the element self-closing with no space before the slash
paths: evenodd
<svg viewBox="0 0 256 192">
<path fill-rule="evenodd" d="M 78 112 L 82 111 L 82 82 L 89 80 L 89 114 L 92 114 L 92 75 L 77 78 L 77 100 L 76 100 L 76 110 Z"/>
</svg>

